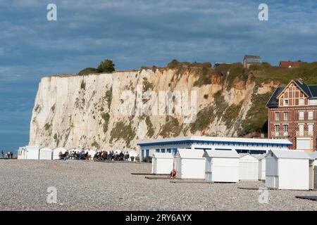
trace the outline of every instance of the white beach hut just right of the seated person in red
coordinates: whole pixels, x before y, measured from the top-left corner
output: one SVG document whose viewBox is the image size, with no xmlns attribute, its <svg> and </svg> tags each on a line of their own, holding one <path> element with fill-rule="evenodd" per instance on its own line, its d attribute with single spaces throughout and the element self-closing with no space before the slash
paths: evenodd
<svg viewBox="0 0 317 225">
<path fill-rule="evenodd" d="M 174 169 L 178 178 L 205 179 L 204 150 L 178 149 L 175 155 Z"/>
</svg>

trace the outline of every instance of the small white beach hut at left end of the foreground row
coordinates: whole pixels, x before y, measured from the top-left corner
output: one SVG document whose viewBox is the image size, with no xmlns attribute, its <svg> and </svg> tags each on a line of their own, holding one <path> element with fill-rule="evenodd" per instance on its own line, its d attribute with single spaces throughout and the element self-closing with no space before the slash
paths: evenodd
<svg viewBox="0 0 317 225">
<path fill-rule="evenodd" d="M 170 174 L 173 170 L 172 153 L 154 153 L 152 158 L 152 174 Z"/>
</svg>

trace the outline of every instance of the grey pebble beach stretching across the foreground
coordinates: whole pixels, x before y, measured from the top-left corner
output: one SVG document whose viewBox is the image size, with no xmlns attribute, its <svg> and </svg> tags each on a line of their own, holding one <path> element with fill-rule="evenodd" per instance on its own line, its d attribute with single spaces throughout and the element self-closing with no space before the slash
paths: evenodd
<svg viewBox="0 0 317 225">
<path fill-rule="evenodd" d="M 149 172 L 149 163 L 0 160 L 0 210 L 317 210 L 317 201 L 295 198 L 317 191 L 268 190 L 268 203 L 259 203 L 263 181 L 171 183 L 131 174 Z M 49 187 L 56 203 L 47 203 Z"/>
</svg>

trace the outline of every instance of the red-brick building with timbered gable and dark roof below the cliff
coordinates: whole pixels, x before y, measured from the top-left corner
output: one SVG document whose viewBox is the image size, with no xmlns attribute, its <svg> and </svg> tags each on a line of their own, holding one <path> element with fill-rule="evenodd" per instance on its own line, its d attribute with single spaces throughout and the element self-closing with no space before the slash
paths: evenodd
<svg viewBox="0 0 317 225">
<path fill-rule="evenodd" d="M 306 85 L 293 79 L 278 87 L 266 104 L 268 108 L 268 138 L 289 139 L 291 149 L 316 150 L 317 84 Z"/>
</svg>

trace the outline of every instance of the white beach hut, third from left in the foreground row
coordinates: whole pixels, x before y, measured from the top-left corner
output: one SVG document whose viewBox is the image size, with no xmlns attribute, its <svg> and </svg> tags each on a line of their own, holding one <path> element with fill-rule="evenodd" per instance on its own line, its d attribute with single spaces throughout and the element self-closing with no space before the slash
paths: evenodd
<svg viewBox="0 0 317 225">
<path fill-rule="evenodd" d="M 239 182 L 239 159 L 235 150 L 206 150 L 205 179 L 212 182 Z"/>
</svg>

